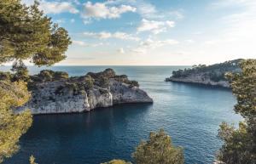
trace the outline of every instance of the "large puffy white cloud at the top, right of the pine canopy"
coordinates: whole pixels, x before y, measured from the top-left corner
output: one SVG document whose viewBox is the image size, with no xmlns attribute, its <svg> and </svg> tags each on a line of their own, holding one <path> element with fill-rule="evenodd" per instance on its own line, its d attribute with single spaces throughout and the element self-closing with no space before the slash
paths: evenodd
<svg viewBox="0 0 256 164">
<path fill-rule="evenodd" d="M 130 5 L 108 6 L 108 3 L 84 3 L 81 16 L 84 19 L 116 19 L 126 12 L 135 12 L 136 8 Z"/>
</svg>

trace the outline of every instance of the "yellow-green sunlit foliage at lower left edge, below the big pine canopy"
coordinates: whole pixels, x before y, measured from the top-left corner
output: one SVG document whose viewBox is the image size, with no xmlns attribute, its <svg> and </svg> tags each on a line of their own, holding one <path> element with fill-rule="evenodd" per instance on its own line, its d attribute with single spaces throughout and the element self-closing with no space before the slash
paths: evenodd
<svg viewBox="0 0 256 164">
<path fill-rule="evenodd" d="M 19 139 L 32 125 L 32 115 L 26 110 L 14 114 L 12 108 L 24 105 L 30 98 L 24 82 L 0 81 L 0 162 L 19 150 Z"/>
</svg>

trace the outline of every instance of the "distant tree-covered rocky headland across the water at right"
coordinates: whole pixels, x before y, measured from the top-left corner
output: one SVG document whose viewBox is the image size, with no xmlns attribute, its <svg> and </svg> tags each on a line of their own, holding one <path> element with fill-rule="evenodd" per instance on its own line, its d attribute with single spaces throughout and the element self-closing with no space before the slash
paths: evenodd
<svg viewBox="0 0 256 164">
<path fill-rule="evenodd" d="M 230 82 L 225 78 L 228 72 L 239 72 L 239 63 L 242 59 L 225 61 L 215 65 L 193 65 L 192 68 L 172 71 L 172 76 L 166 82 L 186 82 L 230 88 Z"/>
</svg>

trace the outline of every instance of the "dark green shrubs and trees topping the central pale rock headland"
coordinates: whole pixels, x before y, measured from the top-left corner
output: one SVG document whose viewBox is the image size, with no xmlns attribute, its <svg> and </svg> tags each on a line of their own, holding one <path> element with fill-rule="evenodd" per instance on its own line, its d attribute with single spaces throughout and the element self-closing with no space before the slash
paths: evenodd
<svg viewBox="0 0 256 164">
<path fill-rule="evenodd" d="M 14 77 L 13 74 L 0 72 L 0 79 Z M 129 88 L 139 87 L 137 81 L 130 81 L 126 75 L 116 75 L 113 69 L 106 69 L 98 73 L 89 72 L 85 76 L 73 76 L 69 77 L 67 72 L 63 71 L 40 71 L 38 75 L 29 76 L 28 88 L 30 90 L 38 89 L 38 85 L 43 82 L 56 82 L 63 81 L 64 85 L 59 86 L 56 89 L 56 94 L 63 93 L 63 89 L 72 89 L 73 93 L 79 94 L 83 91 L 87 91 L 91 88 L 108 88 L 110 80 L 113 79 L 117 82 L 123 82 L 129 85 Z M 39 87 L 40 88 L 40 87 Z M 103 90 L 101 90 L 103 92 Z"/>
</svg>

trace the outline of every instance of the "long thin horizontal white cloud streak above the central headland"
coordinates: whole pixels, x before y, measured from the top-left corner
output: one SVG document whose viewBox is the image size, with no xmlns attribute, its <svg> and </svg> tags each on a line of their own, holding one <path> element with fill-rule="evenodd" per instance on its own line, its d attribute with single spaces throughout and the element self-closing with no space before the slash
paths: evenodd
<svg viewBox="0 0 256 164">
<path fill-rule="evenodd" d="M 86 37 L 95 37 L 95 38 L 99 38 L 99 39 L 108 39 L 108 38 L 116 38 L 116 39 L 121 39 L 121 40 L 131 40 L 131 41 L 139 41 L 140 38 L 139 37 L 134 37 L 131 34 L 127 34 L 125 32 L 114 32 L 114 33 L 110 33 L 110 32 L 106 32 L 106 31 L 102 31 L 99 33 L 95 33 L 95 32 L 84 32 L 84 36 Z"/>
</svg>

